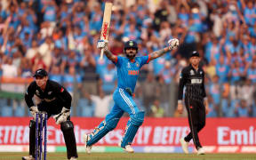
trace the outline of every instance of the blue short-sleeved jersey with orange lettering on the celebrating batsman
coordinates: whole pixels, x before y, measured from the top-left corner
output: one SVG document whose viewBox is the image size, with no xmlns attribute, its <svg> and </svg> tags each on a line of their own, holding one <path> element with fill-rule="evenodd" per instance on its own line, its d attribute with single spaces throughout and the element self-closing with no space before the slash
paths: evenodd
<svg viewBox="0 0 256 160">
<path fill-rule="evenodd" d="M 148 62 L 149 56 L 135 57 L 133 62 L 126 57 L 117 56 L 114 62 L 117 68 L 117 86 L 123 89 L 130 88 L 134 92 L 140 68 Z"/>
</svg>

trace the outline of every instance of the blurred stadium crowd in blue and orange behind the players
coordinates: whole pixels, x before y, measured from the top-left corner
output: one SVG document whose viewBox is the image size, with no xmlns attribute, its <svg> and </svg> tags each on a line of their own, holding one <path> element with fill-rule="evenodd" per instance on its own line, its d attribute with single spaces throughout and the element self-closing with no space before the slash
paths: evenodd
<svg viewBox="0 0 256 160">
<path fill-rule="evenodd" d="M 116 68 L 96 48 L 103 11 L 96 0 L 1 0 L 0 76 L 26 78 L 45 68 L 73 95 L 73 116 L 106 116 Z M 194 50 L 206 73 L 208 116 L 256 116 L 255 22 L 255 0 L 114 0 L 108 49 L 122 54 L 133 39 L 141 56 L 180 40 L 178 50 L 140 71 L 134 100 L 148 116 L 180 116 L 180 70 Z M 28 108 L 0 96 L 0 114 L 28 116 Z"/>
</svg>

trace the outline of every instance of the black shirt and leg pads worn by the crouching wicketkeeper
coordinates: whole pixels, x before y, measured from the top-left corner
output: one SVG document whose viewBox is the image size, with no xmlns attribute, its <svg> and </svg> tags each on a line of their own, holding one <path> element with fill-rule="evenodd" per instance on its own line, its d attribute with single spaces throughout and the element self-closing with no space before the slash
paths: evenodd
<svg viewBox="0 0 256 160">
<path fill-rule="evenodd" d="M 48 118 L 52 115 L 60 114 L 63 107 L 68 109 L 71 107 L 72 97 L 69 92 L 63 86 L 52 80 L 47 80 L 44 92 L 37 86 L 36 81 L 28 85 L 28 90 L 25 93 L 28 108 L 36 106 L 33 102 L 34 95 L 41 100 L 41 102 L 37 104 L 38 110 L 46 111 Z M 35 157 L 36 123 L 34 120 L 30 121 L 29 128 L 29 155 Z M 74 124 L 70 121 L 70 116 L 66 122 L 60 124 L 60 129 L 64 135 L 68 159 L 72 156 L 77 157 Z"/>
</svg>

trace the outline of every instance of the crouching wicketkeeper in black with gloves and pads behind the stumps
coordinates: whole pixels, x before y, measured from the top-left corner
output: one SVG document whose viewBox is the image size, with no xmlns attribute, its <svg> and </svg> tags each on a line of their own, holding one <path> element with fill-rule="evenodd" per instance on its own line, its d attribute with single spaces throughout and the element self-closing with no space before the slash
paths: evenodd
<svg viewBox="0 0 256 160">
<path fill-rule="evenodd" d="M 71 95 L 63 86 L 49 80 L 47 72 L 42 68 L 36 70 L 34 77 L 36 81 L 29 84 L 28 90 L 25 93 L 26 103 L 34 119 L 30 120 L 29 124 L 29 156 L 23 156 L 22 159 L 35 159 L 36 113 L 45 111 L 48 114 L 48 118 L 53 116 L 56 124 L 60 124 L 60 129 L 63 133 L 67 147 L 68 159 L 76 160 L 78 157 L 76 151 L 76 138 L 74 125 L 70 121 Z M 33 101 L 34 95 L 40 100 L 37 107 Z"/>
</svg>

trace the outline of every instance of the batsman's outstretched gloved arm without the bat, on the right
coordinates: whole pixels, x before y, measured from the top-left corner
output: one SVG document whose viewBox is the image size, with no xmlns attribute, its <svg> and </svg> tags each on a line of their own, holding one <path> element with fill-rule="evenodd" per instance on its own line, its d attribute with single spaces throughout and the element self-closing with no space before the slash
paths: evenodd
<svg viewBox="0 0 256 160">
<path fill-rule="evenodd" d="M 166 52 L 170 52 L 173 49 L 176 49 L 179 46 L 179 40 L 176 38 L 170 39 L 168 41 L 168 47 L 164 49 L 158 50 L 156 52 L 152 52 L 149 54 L 149 60 L 155 60 L 158 57 L 163 56 Z"/>
</svg>

